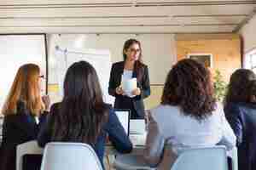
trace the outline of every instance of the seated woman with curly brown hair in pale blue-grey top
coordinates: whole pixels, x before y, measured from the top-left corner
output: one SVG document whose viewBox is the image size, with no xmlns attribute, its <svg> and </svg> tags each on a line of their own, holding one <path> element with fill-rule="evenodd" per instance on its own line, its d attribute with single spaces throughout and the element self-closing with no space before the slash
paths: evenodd
<svg viewBox="0 0 256 170">
<path fill-rule="evenodd" d="M 171 153 L 163 151 L 165 144 L 172 144 Z M 236 136 L 213 97 L 210 72 L 193 59 L 183 59 L 172 67 L 161 103 L 149 113 L 145 160 L 151 167 L 170 169 L 175 160 L 170 156 L 215 144 L 231 150 Z"/>
</svg>

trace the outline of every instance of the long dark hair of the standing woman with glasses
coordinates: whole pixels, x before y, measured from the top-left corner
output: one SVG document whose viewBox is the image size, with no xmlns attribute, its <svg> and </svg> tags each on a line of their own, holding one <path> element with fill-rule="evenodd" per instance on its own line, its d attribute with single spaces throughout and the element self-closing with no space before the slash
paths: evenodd
<svg viewBox="0 0 256 170">
<path fill-rule="evenodd" d="M 143 77 L 143 50 L 142 50 L 141 42 L 139 42 L 137 39 L 128 39 L 124 44 L 123 58 L 125 61 L 127 58 L 125 51 L 127 51 L 133 44 L 138 44 L 140 48 L 140 55 L 137 61 L 135 61 L 134 70 L 137 73 L 137 79 L 141 79 Z"/>
</svg>

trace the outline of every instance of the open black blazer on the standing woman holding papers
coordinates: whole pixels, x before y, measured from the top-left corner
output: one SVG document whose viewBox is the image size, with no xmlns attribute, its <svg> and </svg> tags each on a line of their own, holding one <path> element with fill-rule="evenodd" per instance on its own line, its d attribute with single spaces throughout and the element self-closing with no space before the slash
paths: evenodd
<svg viewBox="0 0 256 170">
<path fill-rule="evenodd" d="M 124 72 L 125 61 L 114 63 L 111 68 L 110 78 L 108 83 L 108 94 L 115 97 L 114 108 L 119 108 L 119 102 L 124 98 L 123 95 L 115 93 L 115 89 L 121 84 L 122 75 Z M 137 77 L 137 71 L 133 71 L 132 77 Z M 142 67 L 142 77 L 137 77 L 137 87 L 141 89 L 142 94 L 138 95 L 132 99 L 134 109 L 137 111 L 139 116 L 144 117 L 145 107 L 143 104 L 143 99 L 150 95 L 150 82 L 148 76 L 148 66 L 143 65 Z M 129 109 L 129 108 L 127 108 Z"/>
</svg>

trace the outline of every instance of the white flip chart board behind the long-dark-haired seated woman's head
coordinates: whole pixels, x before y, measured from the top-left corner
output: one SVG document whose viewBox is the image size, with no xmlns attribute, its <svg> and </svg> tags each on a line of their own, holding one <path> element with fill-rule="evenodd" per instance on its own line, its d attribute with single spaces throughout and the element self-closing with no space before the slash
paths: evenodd
<svg viewBox="0 0 256 170">
<path fill-rule="evenodd" d="M 96 74 L 102 88 L 103 100 L 105 103 L 113 105 L 114 98 L 108 94 L 108 81 L 111 70 L 111 57 L 109 50 L 98 49 L 75 49 L 75 48 L 58 48 L 55 50 L 55 58 L 57 59 L 58 84 L 59 93 L 63 96 L 63 82 L 70 65 L 77 61 L 87 61 L 96 70 Z"/>
</svg>

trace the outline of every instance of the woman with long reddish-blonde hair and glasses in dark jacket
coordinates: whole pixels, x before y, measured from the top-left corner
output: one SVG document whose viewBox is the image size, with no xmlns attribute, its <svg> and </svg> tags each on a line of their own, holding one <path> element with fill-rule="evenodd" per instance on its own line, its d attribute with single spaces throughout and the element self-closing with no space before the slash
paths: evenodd
<svg viewBox="0 0 256 170">
<path fill-rule="evenodd" d="M 34 64 L 20 66 L 15 76 L 2 111 L 0 169 L 15 170 L 16 146 L 37 139 L 41 122 L 44 122 L 44 115 L 49 111 L 49 97 L 42 99 L 40 95 L 42 77 L 38 65 Z M 34 165 L 28 166 L 32 169 Z"/>
</svg>

